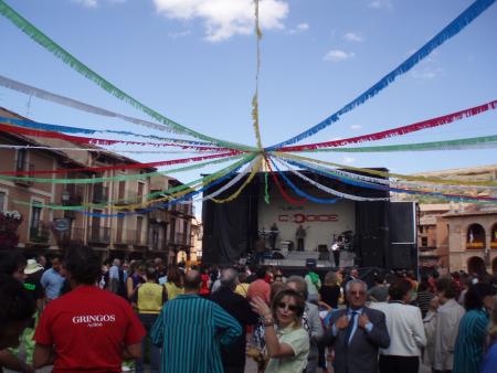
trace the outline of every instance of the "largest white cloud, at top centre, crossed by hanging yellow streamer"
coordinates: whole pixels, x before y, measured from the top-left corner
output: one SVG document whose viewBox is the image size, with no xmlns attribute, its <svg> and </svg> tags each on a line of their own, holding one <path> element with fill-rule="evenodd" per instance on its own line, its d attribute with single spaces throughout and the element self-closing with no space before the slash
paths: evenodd
<svg viewBox="0 0 497 373">
<path fill-rule="evenodd" d="M 166 18 L 193 20 L 205 23 L 205 40 L 220 42 L 233 35 L 247 35 L 254 31 L 254 2 L 252 0 L 154 0 L 157 12 Z M 284 29 L 288 4 L 283 0 L 261 0 L 261 29 Z"/>
</svg>

